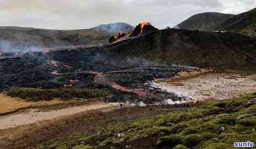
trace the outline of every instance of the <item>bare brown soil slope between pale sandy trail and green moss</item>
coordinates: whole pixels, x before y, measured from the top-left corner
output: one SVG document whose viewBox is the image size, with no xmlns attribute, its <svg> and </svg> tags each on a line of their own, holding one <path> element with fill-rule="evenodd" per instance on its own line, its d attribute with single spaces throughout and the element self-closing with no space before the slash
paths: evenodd
<svg viewBox="0 0 256 149">
<path fill-rule="evenodd" d="M 70 134 L 77 136 L 94 134 L 98 127 L 132 123 L 134 120 L 168 111 L 181 110 L 170 107 L 129 107 L 123 109 L 103 109 L 85 111 L 61 119 L 51 119 L 40 123 L 0 130 L 0 148 L 32 148 L 44 142 L 62 140 Z M 184 110 L 184 109 L 183 109 Z M 131 114 L 133 113 L 133 114 Z"/>
</svg>

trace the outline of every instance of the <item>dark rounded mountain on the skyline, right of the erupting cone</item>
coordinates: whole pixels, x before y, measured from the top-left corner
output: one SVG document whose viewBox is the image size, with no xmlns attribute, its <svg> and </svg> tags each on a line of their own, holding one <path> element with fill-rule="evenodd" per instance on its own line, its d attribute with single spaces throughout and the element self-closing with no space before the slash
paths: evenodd
<svg viewBox="0 0 256 149">
<path fill-rule="evenodd" d="M 229 18 L 234 17 L 234 14 L 224 14 L 217 12 L 206 12 L 193 15 L 184 22 L 178 24 L 175 28 L 185 30 L 200 30 L 212 31 L 216 26 L 224 23 Z"/>
</svg>

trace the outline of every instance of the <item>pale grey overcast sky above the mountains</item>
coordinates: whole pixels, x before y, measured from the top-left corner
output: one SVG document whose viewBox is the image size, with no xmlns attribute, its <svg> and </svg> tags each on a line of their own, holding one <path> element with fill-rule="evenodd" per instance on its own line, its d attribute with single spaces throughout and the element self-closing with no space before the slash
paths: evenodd
<svg viewBox="0 0 256 149">
<path fill-rule="evenodd" d="M 197 13 L 239 14 L 254 7 L 256 0 L 0 0 L 0 26 L 85 29 L 147 21 L 164 28 Z"/>
</svg>

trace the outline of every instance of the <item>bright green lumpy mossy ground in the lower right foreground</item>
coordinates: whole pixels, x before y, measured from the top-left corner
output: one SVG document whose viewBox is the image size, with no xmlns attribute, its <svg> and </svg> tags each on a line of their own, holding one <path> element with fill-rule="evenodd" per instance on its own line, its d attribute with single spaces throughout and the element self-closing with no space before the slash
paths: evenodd
<svg viewBox="0 0 256 149">
<path fill-rule="evenodd" d="M 255 94 L 249 94 L 151 116 L 132 124 L 103 126 L 98 128 L 97 134 L 73 136 L 38 148 L 72 148 L 81 142 L 98 148 L 140 148 L 134 145 L 136 142 L 148 144 L 148 148 L 232 148 L 234 142 L 256 141 L 255 99 Z M 244 114 L 249 116 L 236 121 L 237 116 Z M 145 141 L 150 139 L 155 142 Z"/>
</svg>

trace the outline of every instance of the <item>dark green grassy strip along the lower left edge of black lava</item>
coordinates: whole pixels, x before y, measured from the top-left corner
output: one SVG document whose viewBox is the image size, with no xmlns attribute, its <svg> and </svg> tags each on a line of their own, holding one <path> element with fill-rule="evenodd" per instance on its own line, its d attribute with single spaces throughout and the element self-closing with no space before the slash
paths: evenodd
<svg viewBox="0 0 256 149">
<path fill-rule="evenodd" d="M 37 88 L 12 88 L 4 92 L 9 97 L 18 97 L 28 101 L 38 102 L 40 100 L 52 100 L 60 98 L 71 100 L 74 98 L 97 98 L 104 97 L 107 92 L 102 89 L 87 88 L 59 88 L 59 89 L 37 89 Z"/>
</svg>

